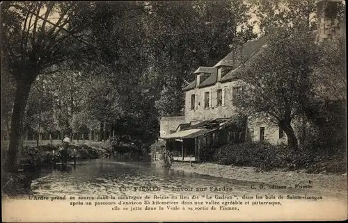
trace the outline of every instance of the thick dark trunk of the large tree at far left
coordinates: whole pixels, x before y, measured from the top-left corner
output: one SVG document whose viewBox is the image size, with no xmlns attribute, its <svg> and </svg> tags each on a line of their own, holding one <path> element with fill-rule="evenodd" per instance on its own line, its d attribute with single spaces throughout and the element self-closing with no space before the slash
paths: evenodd
<svg viewBox="0 0 348 223">
<path fill-rule="evenodd" d="M 8 147 L 8 156 L 6 159 L 5 168 L 8 172 L 18 171 L 18 156 L 21 147 L 21 140 L 23 135 L 23 119 L 26 107 L 26 101 L 29 97 L 32 81 L 19 81 L 17 83 L 17 90 L 15 94 L 15 104 L 13 106 L 13 113 L 11 117 L 11 131 L 10 131 L 10 145 Z"/>
</svg>

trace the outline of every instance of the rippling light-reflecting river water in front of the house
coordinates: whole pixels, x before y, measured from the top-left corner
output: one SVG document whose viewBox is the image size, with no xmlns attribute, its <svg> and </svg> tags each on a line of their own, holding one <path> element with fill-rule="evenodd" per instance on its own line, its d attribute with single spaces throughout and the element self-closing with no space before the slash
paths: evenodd
<svg viewBox="0 0 348 223">
<path fill-rule="evenodd" d="M 190 194 L 201 194 L 196 188 L 232 187 L 232 192 L 214 192 L 214 194 L 244 195 L 260 193 L 251 189 L 251 185 L 258 187 L 259 183 L 234 181 L 213 176 L 185 173 L 178 170 L 165 170 L 155 167 L 151 163 L 120 163 L 112 159 L 97 159 L 78 162 L 74 168 L 67 170 L 43 171 L 38 179 L 33 181 L 31 189 L 34 194 L 59 195 L 156 195 L 187 194 L 187 192 L 173 192 L 171 188 L 193 188 Z M 134 187 L 152 186 L 161 188 L 161 192 L 139 192 Z M 120 191 L 120 187 L 128 188 Z M 268 187 L 265 187 L 268 188 Z M 303 190 L 262 190 L 268 194 L 303 194 Z M 308 194 L 308 192 L 306 192 Z M 315 192 L 311 192 L 315 195 Z M 322 195 L 322 194 L 320 194 Z"/>
</svg>

